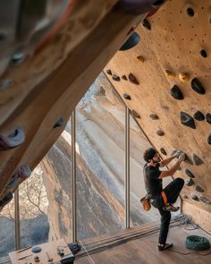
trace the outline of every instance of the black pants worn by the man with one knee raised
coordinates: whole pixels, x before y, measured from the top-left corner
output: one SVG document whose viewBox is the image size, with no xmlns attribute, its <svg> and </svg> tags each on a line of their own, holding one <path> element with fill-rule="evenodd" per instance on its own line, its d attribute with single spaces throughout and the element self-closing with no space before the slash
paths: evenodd
<svg viewBox="0 0 211 264">
<path fill-rule="evenodd" d="M 183 185 L 184 180 L 181 178 L 177 178 L 165 187 L 164 191 L 169 203 L 174 203 L 177 200 Z M 165 210 L 163 210 L 163 206 L 165 204 L 161 195 L 155 200 L 152 200 L 151 204 L 159 210 L 159 213 L 161 215 L 161 226 L 158 243 L 165 244 L 171 221 L 171 212 L 166 212 Z"/>
</svg>

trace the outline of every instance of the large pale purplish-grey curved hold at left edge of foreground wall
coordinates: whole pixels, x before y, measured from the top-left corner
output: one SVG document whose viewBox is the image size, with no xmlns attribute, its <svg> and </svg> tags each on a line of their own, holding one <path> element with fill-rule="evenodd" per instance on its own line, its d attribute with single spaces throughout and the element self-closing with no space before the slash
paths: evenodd
<svg viewBox="0 0 211 264">
<path fill-rule="evenodd" d="M 25 132 L 16 128 L 6 134 L 0 134 L 0 150 L 15 148 L 25 141 Z"/>
</svg>

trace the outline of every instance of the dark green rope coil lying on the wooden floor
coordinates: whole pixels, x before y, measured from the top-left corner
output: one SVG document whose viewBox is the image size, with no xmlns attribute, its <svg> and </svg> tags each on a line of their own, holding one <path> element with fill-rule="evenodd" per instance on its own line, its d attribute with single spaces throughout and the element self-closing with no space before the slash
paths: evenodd
<svg viewBox="0 0 211 264">
<path fill-rule="evenodd" d="M 206 251 L 210 248 L 210 243 L 206 237 L 189 235 L 186 237 L 186 248 L 193 251 Z"/>
</svg>

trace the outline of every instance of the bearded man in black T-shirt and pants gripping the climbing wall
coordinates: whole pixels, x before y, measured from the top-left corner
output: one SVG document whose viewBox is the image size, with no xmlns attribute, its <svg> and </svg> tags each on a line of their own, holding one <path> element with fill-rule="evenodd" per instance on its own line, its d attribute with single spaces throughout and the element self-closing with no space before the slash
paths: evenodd
<svg viewBox="0 0 211 264">
<path fill-rule="evenodd" d="M 179 207 L 174 207 L 173 203 L 177 200 L 181 189 L 184 185 L 184 180 L 176 178 L 172 183 L 169 183 L 163 190 L 163 178 L 173 176 L 177 171 L 181 162 L 185 159 L 185 154 L 181 154 L 178 161 L 172 168 L 165 171 L 160 171 L 159 167 L 168 165 L 173 158 L 162 160 L 159 158 L 156 149 L 149 148 L 144 152 L 144 160 L 147 164 L 144 166 L 144 182 L 148 192 L 150 203 L 159 210 L 161 215 L 161 226 L 158 240 L 158 251 L 165 251 L 173 246 L 173 243 L 165 243 L 169 230 L 171 211 L 175 212 Z"/>
</svg>

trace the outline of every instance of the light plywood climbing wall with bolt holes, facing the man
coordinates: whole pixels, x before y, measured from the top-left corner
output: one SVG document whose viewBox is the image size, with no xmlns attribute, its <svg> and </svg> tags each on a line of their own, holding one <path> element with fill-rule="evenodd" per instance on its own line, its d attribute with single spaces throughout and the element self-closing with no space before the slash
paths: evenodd
<svg viewBox="0 0 211 264">
<path fill-rule="evenodd" d="M 210 231 L 211 3 L 167 1 L 137 32 L 139 44 L 118 51 L 105 72 L 162 158 L 187 154 L 176 173 L 192 206 L 184 212 L 207 211 L 196 221 Z"/>
</svg>

